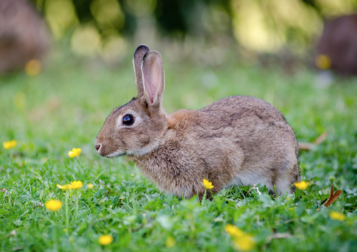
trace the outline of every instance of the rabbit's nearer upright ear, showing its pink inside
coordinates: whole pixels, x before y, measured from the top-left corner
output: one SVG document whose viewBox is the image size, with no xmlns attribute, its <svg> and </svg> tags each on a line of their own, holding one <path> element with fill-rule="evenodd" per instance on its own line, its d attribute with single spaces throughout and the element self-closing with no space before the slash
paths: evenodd
<svg viewBox="0 0 357 252">
<path fill-rule="evenodd" d="M 144 90 L 152 106 L 161 106 L 165 89 L 165 72 L 161 55 L 157 51 L 149 51 L 144 56 L 141 66 L 144 79 Z"/>
</svg>

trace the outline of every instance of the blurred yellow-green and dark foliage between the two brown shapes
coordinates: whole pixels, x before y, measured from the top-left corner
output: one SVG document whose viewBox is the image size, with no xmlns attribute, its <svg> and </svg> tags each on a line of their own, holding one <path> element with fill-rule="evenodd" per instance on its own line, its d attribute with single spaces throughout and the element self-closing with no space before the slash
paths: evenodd
<svg viewBox="0 0 357 252">
<path fill-rule="evenodd" d="M 357 0 L 30 1 L 44 13 L 56 37 L 73 31 L 77 24 L 92 24 L 104 41 L 111 34 L 129 39 L 138 31 L 139 22 L 143 24 L 150 17 L 161 36 L 213 41 L 235 37 L 239 44 L 257 51 L 276 51 L 284 44 L 302 49 L 321 31 L 326 17 L 348 14 L 357 8 Z M 64 19 L 63 13 L 71 9 L 74 16 L 56 21 Z"/>
</svg>

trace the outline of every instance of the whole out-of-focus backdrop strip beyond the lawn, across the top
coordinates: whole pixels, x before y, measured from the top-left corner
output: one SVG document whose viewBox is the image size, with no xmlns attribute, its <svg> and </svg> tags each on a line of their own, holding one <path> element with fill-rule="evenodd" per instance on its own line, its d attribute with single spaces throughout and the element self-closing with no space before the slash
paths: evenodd
<svg viewBox="0 0 357 252">
<path fill-rule="evenodd" d="M 317 46 L 318 39 L 329 20 L 353 14 L 357 9 L 356 0 L 1 0 L 0 3 L 0 21 L 3 19 L 0 56 L 9 65 L 0 64 L 0 72 L 24 69 L 31 59 L 49 62 L 43 61 L 46 55 L 59 48 L 79 59 L 95 59 L 97 63 L 116 66 L 126 56 L 131 57 L 139 44 L 160 49 L 169 61 L 211 66 L 232 60 L 263 66 L 278 64 L 287 73 L 294 71 L 296 64 L 334 69 L 333 56 L 329 55 L 334 48 L 321 49 L 323 45 Z M 31 8 L 26 8 L 31 7 L 29 4 L 39 15 L 35 11 L 30 13 Z M 347 23 L 343 26 L 348 26 Z M 15 32 L 16 29 L 19 31 Z M 324 41 L 328 44 L 336 36 L 343 40 L 353 29 L 357 34 L 356 16 L 345 34 L 335 28 Z M 21 36 L 23 41 L 17 43 Z M 353 39 L 356 38 L 340 42 L 346 46 Z M 9 44 L 16 47 L 15 56 L 10 55 L 9 48 L 4 49 Z M 357 58 L 357 45 L 354 47 L 349 54 Z M 1 50 L 8 51 L 6 56 Z M 341 52 L 338 55 L 341 58 Z M 26 62 L 19 62 L 20 59 L 9 62 L 9 58 Z M 355 61 L 352 74 L 356 74 Z M 28 69 L 35 68 L 36 73 L 38 63 L 32 61 Z"/>
</svg>

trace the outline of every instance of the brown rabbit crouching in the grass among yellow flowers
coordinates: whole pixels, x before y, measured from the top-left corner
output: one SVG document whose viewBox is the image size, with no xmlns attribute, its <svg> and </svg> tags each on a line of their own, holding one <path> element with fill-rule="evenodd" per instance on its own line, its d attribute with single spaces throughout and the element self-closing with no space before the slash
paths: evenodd
<svg viewBox="0 0 357 252">
<path fill-rule="evenodd" d="M 145 45 L 134 53 L 138 96 L 114 109 L 96 137 L 101 156 L 128 156 L 151 181 L 191 198 L 236 185 L 266 185 L 292 193 L 299 180 L 298 145 L 278 109 L 251 96 L 230 96 L 200 110 L 166 114 L 161 55 Z M 276 188 L 274 188 L 274 186 Z"/>
</svg>

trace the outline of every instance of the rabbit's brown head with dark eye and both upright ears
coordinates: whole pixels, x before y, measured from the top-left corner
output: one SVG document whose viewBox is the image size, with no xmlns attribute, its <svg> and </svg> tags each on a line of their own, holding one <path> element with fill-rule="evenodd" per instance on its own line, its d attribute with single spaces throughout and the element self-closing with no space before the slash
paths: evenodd
<svg viewBox="0 0 357 252">
<path fill-rule="evenodd" d="M 145 45 L 134 53 L 138 96 L 114 109 L 96 137 L 101 156 L 141 156 L 159 145 L 168 127 L 162 108 L 165 74 L 161 55 Z"/>
</svg>

